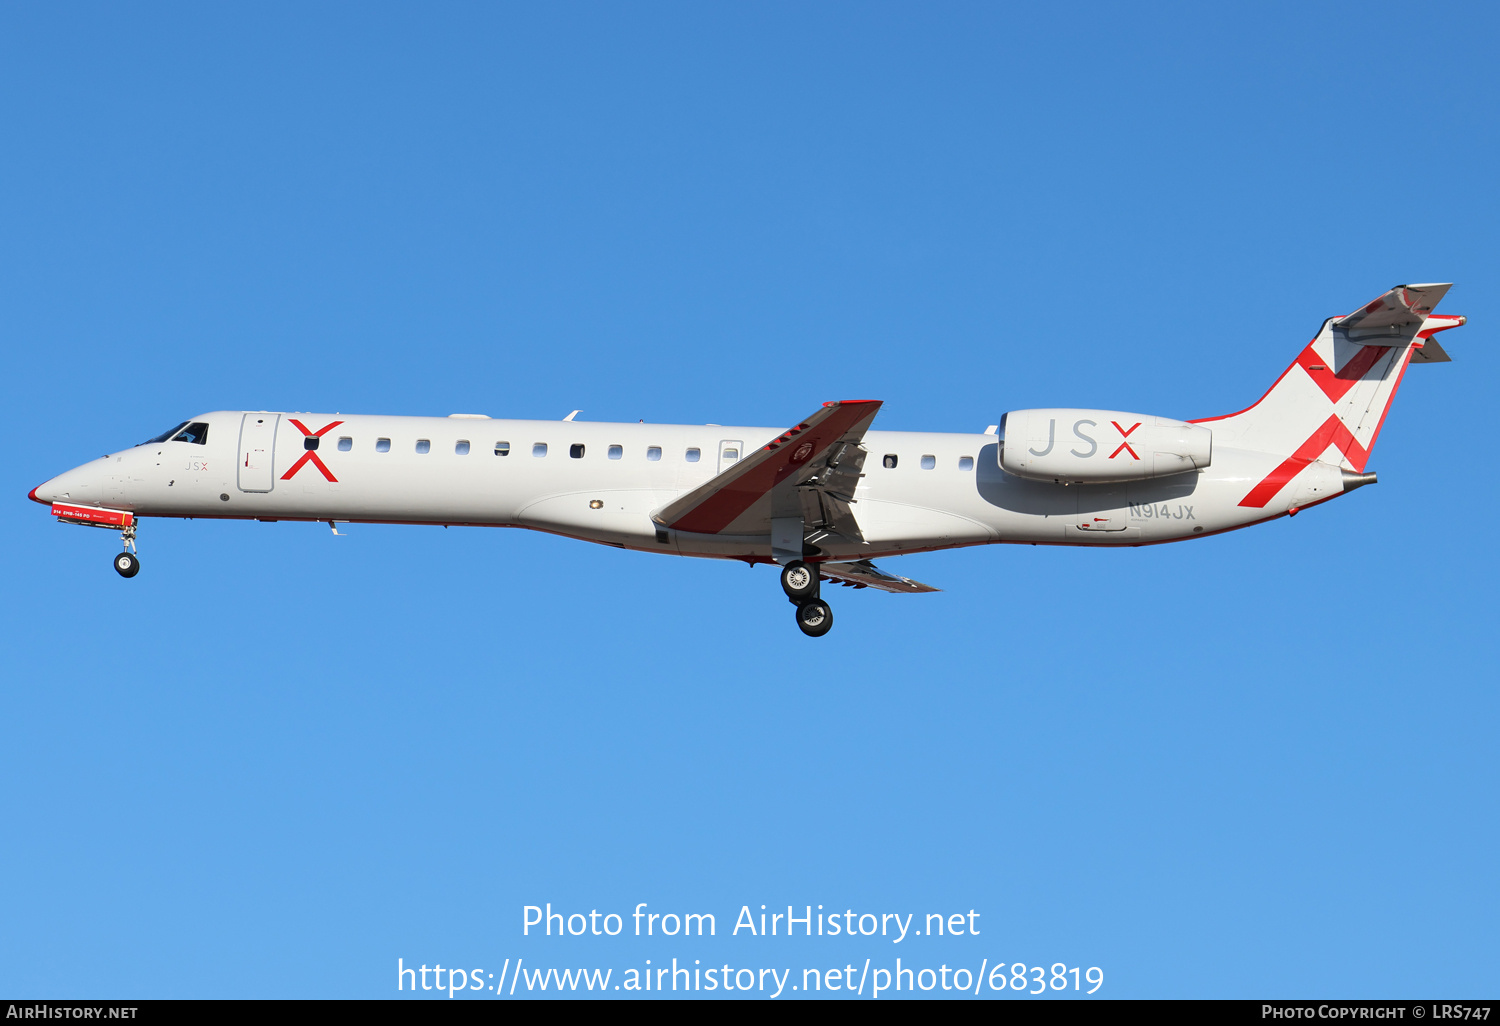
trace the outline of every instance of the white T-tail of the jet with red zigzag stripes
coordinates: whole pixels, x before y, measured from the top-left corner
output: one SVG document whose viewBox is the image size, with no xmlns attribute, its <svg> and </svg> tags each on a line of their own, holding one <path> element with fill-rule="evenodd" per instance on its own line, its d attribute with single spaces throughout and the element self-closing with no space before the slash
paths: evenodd
<svg viewBox="0 0 1500 1026">
<path fill-rule="evenodd" d="M 1346 316 L 1323 322 L 1306 348 L 1250 410 L 1212 424 L 1214 444 L 1286 456 L 1240 506 L 1264 508 L 1314 462 L 1340 466 L 1346 490 L 1365 472 L 1390 400 L 1410 363 L 1446 363 L 1434 338 L 1466 318 L 1432 314 L 1450 285 L 1396 285 Z"/>
</svg>

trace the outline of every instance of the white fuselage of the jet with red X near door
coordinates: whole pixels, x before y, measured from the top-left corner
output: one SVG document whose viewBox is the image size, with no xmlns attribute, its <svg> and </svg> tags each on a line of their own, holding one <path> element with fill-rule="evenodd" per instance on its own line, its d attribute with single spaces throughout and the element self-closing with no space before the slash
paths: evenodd
<svg viewBox="0 0 1500 1026">
<path fill-rule="evenodd" d="M 645 552 L 771 560 L 770 537 L 664 531 L 651 514 L 765 446 L 774 428 L 242 411 L 195 422 L 208 426 L 202 444 L 126 448 L 46 482 L 34 498 L 136 516 L 524 526 Z M 333 422 L 316 460 L 304 459 L 304 430 Z M 1222 447 L 1212 466 L 1172 477 L 1034 482 L 1000 470 L 998 444 L 986 434 L 867 432 L 854 506 L 864 543 L 830 543 L 826 556 L 1174 542 L 1342 490 L 1340 470 L 1316 464 L 1272 504 L 1242 507 L 1284 456 Z"/>
</svg>

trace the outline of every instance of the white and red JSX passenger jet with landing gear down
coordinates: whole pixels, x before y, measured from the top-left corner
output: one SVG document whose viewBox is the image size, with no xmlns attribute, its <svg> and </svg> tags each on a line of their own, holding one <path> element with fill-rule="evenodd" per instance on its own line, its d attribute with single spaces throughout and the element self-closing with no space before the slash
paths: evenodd
<svg viewBox="0 0 1500 1026">
<path fill-rule="evenodd" d="M 1202 420 L 1018 410 L 981 434 L 872 430 L 879 400 L 792 428 L 218 411 L 32 489 L 63 524 L 146 518 L 518 526 L 638 552 L 780 567 L 796 626 L 832 627 L 822 584 L 936 591 L 874 560 L 972 544 L 1143 546 L 1318 506 L 1366 471 L 1412 363 L 1446 363 L 1432 308 L 1398 285 L 1317 336 L 1252 406 Z"/>
</svg>

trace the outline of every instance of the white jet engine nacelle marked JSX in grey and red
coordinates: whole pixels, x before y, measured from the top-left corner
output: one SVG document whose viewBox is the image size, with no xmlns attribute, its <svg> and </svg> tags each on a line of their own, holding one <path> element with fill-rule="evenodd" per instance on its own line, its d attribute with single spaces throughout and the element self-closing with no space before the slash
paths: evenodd
<svg viewBox="0 0 1500 1026">
<path fill-rule="evenodd" d="M 1214 432 L 1114 410 L 1017 410 L 1000 420 L 1000 468 L 1034 482 L 1140 482 L 1203 470 Z"/>
</svg>

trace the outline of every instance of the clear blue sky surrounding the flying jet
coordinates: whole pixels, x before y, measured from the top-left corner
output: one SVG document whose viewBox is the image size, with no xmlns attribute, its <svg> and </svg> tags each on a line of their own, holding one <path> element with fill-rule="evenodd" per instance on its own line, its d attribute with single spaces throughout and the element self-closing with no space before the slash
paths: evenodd
<svg viewBox="0 0 1500 1026">
<path fill-rule="evenodd" d="M 0 992 L 1492 993 L 1496 44 L 1486 4 L 6 8 Z M 909 556 L 940 594 L 820 640 L 764 567 L 520 531 L 147 522 L 122 580 L 24 498 L 225 408 L 1203 417 L 1414 280 L 1472 324 L 1378 488 Z M 524 938 L 546 902 L 720 936 Z M 762 903 L 981 933 L 726 936 Z"/>
</svg>

